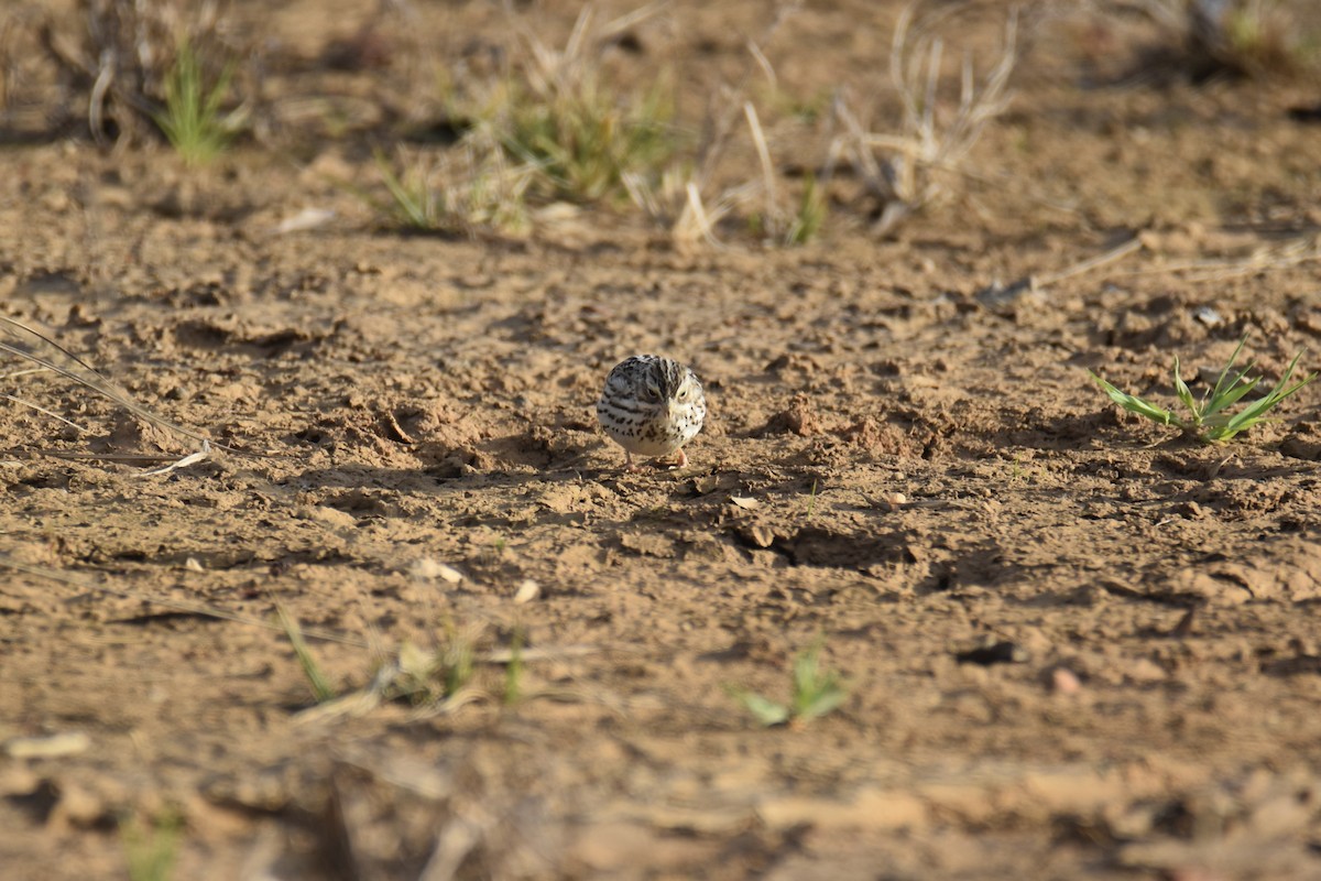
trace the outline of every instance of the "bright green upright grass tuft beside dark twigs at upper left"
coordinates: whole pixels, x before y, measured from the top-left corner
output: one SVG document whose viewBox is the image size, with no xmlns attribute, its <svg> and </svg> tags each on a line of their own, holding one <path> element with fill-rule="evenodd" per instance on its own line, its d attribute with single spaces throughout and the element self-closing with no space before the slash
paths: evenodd
<svg viewBox="0 0 1321 881">
<path fill-rule="evenodd" d="M 165 108 L 152 115 L 170 145 L 190 168 L 207 165 L 225 152 L 242 125 L 240 114 L 221 114 L 234 65 L 207 90 L 202 59 L 184 42 L 165 78 Z"/>
</svg>

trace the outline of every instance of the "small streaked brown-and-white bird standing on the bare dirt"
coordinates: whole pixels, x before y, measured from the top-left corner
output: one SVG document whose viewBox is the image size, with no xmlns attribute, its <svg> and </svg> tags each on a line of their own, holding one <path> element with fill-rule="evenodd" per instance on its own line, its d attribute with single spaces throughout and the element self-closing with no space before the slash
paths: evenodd
<svg viewBox="0 0 1321 881">
<path fill-rule="evenodd" d="M 596 402 L 601 428 L 624 448 L 625 468 L 638 470 L 633 454 L 659 458 L 679 453 L 701 431 L 707 398 L 691 367 L 659 355 L 634 355 L 614 366 Z"/>
</svg>

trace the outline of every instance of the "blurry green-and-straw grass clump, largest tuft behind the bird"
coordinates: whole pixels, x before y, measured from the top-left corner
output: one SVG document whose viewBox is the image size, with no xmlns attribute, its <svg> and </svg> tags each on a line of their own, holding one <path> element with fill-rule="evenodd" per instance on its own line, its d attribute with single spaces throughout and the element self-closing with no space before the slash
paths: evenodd
<svg viewBox="0 0 1321 881">
<path fill-rule="evenodd" d="M 596 24 L 579 16 L 563 49 L 511 20 L 517 58 L 486 75 L 446 71 L 445 116 L 458 131 L 446 151 L 376 166 L 387 199 L 367 197 L 399 229 L 523 232 L 531 205 L 616 202 L 638 181 L 653 188 L 676 155 L 664 78 L 641 91 L 610 85 L 604 66 L 645 8 Z"/>
</svg>

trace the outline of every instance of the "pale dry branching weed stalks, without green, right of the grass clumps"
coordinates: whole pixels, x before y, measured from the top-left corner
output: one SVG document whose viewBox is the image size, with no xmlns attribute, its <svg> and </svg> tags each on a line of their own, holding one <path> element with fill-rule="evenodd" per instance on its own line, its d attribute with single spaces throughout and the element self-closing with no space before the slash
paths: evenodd
<svg viewBox="0 0 1321 881">
<path fill-rule="evenodd" d="M 902 102 L 898 133 L 867 131 L 843 95 L 834 118 L 844 128 L 830 151 L 827 169 L 847 156 L 864 184 L 881 202 L 877 231 L 886 234 L 904 218 L 948 199 L 967 178 L 980 178 L 968 168 L 968 156 L 987 124 L 1004 112 L 1012 95 L 1009 77 L 1017 62 L 1018 12 L 1004 25 L 1000 57 L 978 82 L 971 54 L 963 57 L 959 103 L 942 114 L 939 86 L 945 41 L 935 28 L 950 17 L 941 11 L 914 21 L 915 5 L 900 13 L 890 48 L 889 75 Z"/>
</svg>

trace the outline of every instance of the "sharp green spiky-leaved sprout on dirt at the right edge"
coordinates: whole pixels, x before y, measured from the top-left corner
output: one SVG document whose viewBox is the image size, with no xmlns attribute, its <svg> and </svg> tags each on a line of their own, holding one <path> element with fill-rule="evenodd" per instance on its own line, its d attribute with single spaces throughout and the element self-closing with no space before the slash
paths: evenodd
<svg viewBox="0 0 1321 881">
<path fill-rule="evenodd" d="M 1267 413 L 1281 400 L 1299 391 L 1313 379 L 1316 374 L 1308 374 L 1299 382 L 1289 384 L 1293 378 L 1293 371 L 1299 365 L 1299 359 L 1303 353 L 1293 355 L 1293 361 L 1284 370 L 1284 375 L 1280 380 L 1266 394 L 1264 398 L 1259 398 L 1250 403 L 1247 407 L 1236 413 L 1230 413 L 1229 408 L 1236 404 L 1242 398 L 1244 398 L 1250 391 L 1256 388 L 1256 384 L 1262 382 L 1260 376 L 1247 378 L 1250 370 L 1255 362 L 1247 365 L 1238 372 L 1234 371 L 1234 362 L 1238 361 L 1239 353 L 1243 351 L 1243 345 L 1247 342 L 1247 335 L 1244 335 L 1239 345 L 1234 349 L 1234 354 L 1230 355 L 1229 362 L 1221 370 L 1219 378 L 1215 380 L 1215 386 L 1209 390 L 1201 399 L 1193 396 L 1189 391 L 1188 383 L 1180 375 L 1178 370 L 1178 355 L 1174 357 L 1174 391 L 1178 399 L 1184 402 L 1184 407 L 1188 408 L 1189 416 L 1182 417 L 1177 413 L 1162 409 L 1151 402 L 1139 398 L 1136 395 L 1129 395 L 1119 391 L 1112 384 L 1098 376 L 1096 374 L 1087 371 L 1089 375 L 1096 380 L 1098 384 L 1110 395 L 1110 399 L 1127 409 L 1131 413 L 1137 413 L 1139 416 L 1145 416 L 1147 419 L 1160 423 L 1161 425 L 1173 425 L 1181 429 L 1185 435 L 1196 437 L 1203 444 L 1214 444 L 1218 441 L 1226 441 L 1252 428 L 1258 423 L 1267 420 Z"/>
</svg>

